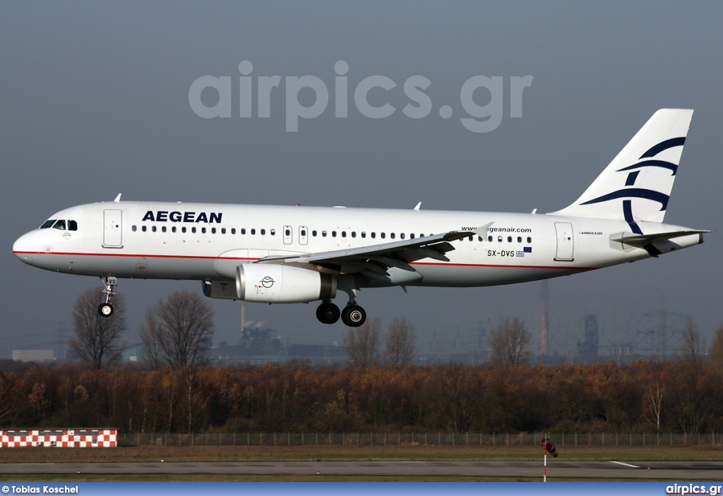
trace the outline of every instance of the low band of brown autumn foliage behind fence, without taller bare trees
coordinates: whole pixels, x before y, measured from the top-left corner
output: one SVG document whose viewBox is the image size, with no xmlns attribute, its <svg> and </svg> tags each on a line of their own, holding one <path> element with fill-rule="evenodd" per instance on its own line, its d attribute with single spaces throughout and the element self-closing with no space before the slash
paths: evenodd
<svg viewBox="0 0 723 496">
<path fill-rule="evenodd" d="M 690 361 L 110 372 L 62 364 L 0 369 L 0 414 L 7 427 L 123 432 L 720 432 L 721 386 Z"/>
</svg>

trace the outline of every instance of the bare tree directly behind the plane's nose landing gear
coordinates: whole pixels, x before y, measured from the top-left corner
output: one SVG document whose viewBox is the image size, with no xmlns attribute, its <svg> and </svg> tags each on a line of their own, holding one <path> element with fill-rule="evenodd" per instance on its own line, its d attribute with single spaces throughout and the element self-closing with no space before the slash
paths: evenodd
<svg viewBox="0 0 723 496">
<path fill-rule="evenodd" d="M 74 336 L 69 341 L 80 359 L 96 370 L 121 359 L 121 334 L 126 330 L 125 303 L 121 295 L 114 298 L 114 312 L 100 316 L 98 305 L 103 300 L 100 289 L 90 288 L 80 294 L 73 304 Z"/>
</svg>

